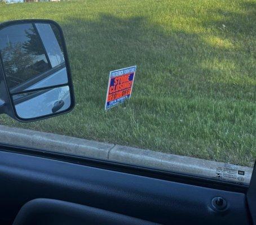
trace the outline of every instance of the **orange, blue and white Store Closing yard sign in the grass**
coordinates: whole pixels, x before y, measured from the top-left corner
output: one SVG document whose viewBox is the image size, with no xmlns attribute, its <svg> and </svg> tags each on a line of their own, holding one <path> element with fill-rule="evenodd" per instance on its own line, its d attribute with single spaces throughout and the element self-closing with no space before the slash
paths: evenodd
<svg viewBox="0 0 256 225">
<path fill-rule="evenodd" d="M 105 110 L 123 103 L 131 97 L 136 66 L 114 70 L 109 73 Z"/>
</svg>

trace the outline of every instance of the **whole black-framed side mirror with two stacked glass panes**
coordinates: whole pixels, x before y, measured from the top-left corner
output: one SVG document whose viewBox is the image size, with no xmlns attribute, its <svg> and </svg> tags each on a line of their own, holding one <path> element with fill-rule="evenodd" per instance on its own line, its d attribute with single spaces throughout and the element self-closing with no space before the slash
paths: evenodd
<svg viewBox="0 0 256 225">
<path fill-rule="evenodd" d="M 60 26 L 51 20 L 0 24 L 0 114 L 32 122 L 68 113 L 74 104 Z"/>
</svg>

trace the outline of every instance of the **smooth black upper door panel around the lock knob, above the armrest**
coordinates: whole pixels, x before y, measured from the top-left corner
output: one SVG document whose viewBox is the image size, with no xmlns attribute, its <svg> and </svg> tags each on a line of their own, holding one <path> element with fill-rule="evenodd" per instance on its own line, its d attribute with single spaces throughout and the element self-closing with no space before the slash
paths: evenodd
<svg viewBox="0 0 256 225">
<path fill-rule="evenodd" d="M 11 224 L 38 198 L 68 201 L 160 224 L 249 224 L 245 194 L 0 152 L 0 218 Z M 211 207 L 223 197 L 227 209 Z"/>
</svg>

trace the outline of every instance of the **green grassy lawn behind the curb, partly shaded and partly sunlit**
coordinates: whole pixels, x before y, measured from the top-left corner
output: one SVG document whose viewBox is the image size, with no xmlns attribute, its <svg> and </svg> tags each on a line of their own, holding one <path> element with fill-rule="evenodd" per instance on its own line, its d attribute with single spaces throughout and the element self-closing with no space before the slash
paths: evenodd
<svg viewBox="0 0 256 225">
<path fill-rule="evenodd" d="M 256 1 L 85 0 L 0 4 L 0 21 L 62 26 L 76 108 L 21 124 L 171 154 L 256 158 Z M 104 111 L 109 71 L 137 65 L 129 102 Z"/>
</svg>

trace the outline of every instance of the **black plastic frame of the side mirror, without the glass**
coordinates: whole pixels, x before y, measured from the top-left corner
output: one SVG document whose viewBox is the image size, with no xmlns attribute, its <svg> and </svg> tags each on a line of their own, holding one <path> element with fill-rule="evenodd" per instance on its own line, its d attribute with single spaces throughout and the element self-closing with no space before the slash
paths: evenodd
<svg viewBox="0 0 256 225">
<path fill-rule="evenodd" d="M 45 115 L 45 116 L 38 116 L 38 117 L 32 118 L 32 119 L 20 118 L 16 113 L 15 105 L 14 105 L 14 102 L 12 100 L 9 88 L 7 86 L 7 80 L 6 80 L 5 71 L 4 71 L 4 68 L 3 68 L 3 61 L 2 61 L 2 57 L 1 57 L 1 53 L 0 53 L 0 114 L 7 114 L 7 115 L 11 116 L 11 118 L 18 120 L 19 122 L 34 122 L 34 121 L 37 121 L 37 120 L 47 119 L 47 118 L 51 118 L 51 117 L 54 117 L 54 116 L 66 114 L 66 113 L 69 113 L 70 111 L 72 111 L 74 109 L 74 106 L 76 105 L 75 98 L 74 98 L 74 88 L 73 88 L 73 82 L 72 82 L 72 75 L 71 75 L 69 59 L 68 59 L 67 46 L 66 46 L 66 43 L 65 43 L 63 30 L 61 29 L 60 25 L 57 22 L 55 22 L 53 20 L 45 20 L 45 19 L 13 20 L 13 21 L 7 21 L 7 22 L 1 23 L 0 24 L 0 30 L 2 30 L 3 28 L 6 28 L 7 26 L 10 26 L 10 25 L 28 24 L 28 23 L 32 23 L 32 24 L 34 24 L 34 23 L 53 24 L 60 31 L 60 38 L 61 38 L 61 42 L 63 43 L 63 52 L 64 52 L 65 66 L 66 66 L 67 76 L 68 76 L 68 83 L 67 84 L 61 84 L 61 85 L 58 85 L 58 86 L 51 86 L 51 87 L 41 88 L 41 89 L 48 89 L 48 88 L 50 89 L 50 88 L 58 88 L 58 87 L 68 86 L 69 87 L 69 92 L 70 92 L 70 106 L 67 110 L 64 110 L 64 111 L 61 111 L 61 112 L 55 113 L 55 114 L 50 114 L 50 115 Z M 34 89 L 33 91 L 37 91 L 37 90 L 40 90 L 40 89 Z"/>
</svg>

